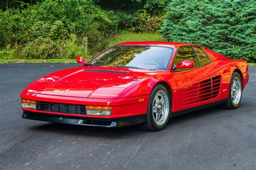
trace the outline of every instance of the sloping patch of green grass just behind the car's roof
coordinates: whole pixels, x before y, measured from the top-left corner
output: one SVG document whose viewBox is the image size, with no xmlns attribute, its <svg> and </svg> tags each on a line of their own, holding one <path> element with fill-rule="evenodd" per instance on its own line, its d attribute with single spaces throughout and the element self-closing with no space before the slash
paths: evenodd
<svg viewBox="0 0 256 170">
<path fill-rule="evenodd" d="M 133 31 L 122 30 L 117 33 L 114 39 L 109 41 L 109 47 L 128 41 L 167 41 L 158 32 L 136 33 Z"/>
</svg>

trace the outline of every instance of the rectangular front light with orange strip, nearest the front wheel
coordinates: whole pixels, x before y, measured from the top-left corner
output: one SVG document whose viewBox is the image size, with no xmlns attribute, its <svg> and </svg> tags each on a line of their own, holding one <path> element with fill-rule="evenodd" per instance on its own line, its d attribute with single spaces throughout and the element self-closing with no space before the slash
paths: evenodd
<svg viewBox="0 0 256 170">
<path fill-rule="evenodd" d="M 112 107 L 109 106 L 86 105 L 86 115 L 109 116 L 111 111 Z"/>
</svg>

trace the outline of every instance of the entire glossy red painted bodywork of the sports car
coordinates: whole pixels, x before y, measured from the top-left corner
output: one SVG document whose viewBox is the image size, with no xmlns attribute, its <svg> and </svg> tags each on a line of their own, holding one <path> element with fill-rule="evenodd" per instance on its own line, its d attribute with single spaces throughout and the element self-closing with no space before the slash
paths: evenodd
<svg viewBox="0 0 256 170">
<path fill-rule="evenodd" d="M 201 48 L 204 49 L 211 59 L 210 63 L 199 68 L 172 72 L 172 63 L 177 49 L 181 46 L 198 45 L 148 41 L 124 42 L 118 45 L 166 46 L 174 48 L 174 51 L 167 70 L 151 71 L 147 69 L 80 66 L 45 75 L 31 83 L 21 93 L 21 98 L 29 100 L 112 106 L 110 116 L 71 115 L 59 112 L 22 109 L 45 114 L 93 118 L 118 118 L 142 115 L 147 112 L 152 89 L 158 83 L 165 83 L 172 95 L 171 111 L 176 112 L 226 99 L 228 97 L 231 76 L 235 69 L 242 75 L 242 89 L 245 88 L 248 81 L 248 67 L 245 60 L 228 59 L 204 47 Z M 84 72 L 84 70 L 114 70 L 127 73 L 88 73 Z M 197 90 L 193 88 L 197 87 L 198 83 L 211 77 L 217 77 L 216 81 L 220 82 L 218 96 L 206 98 L 206 100 L 200 96 L 201 100 L 198 100 L 186 95 L 188 92 L 197 95 Z"/>
</svg>

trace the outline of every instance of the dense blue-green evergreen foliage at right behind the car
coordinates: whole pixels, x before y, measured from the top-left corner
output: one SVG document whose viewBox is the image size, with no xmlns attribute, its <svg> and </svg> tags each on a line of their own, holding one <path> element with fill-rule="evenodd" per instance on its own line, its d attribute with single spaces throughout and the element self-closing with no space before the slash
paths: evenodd
<svg viewBox="0 0 256 170">
<path fill-rule="evenodd" d="M 160 33 L 234 59 L 256 62 L 256 1 L 174 0 Z"/>
</svg>

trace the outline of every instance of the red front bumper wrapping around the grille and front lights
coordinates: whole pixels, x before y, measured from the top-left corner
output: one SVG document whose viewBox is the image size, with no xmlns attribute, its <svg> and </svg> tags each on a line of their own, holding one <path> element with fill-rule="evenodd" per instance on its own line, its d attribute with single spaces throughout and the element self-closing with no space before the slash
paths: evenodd
<svg viewBox="0 0 256 170">
<path fill-rule="evenodd" d="M 65 103 L 65 104 L 78 104 L 78 105 L 98 105 L 98 106 L 110 106 L 112 112 L 110 116 L 104 116 L 104 118 L 119 118 L 142 115 L 147 112 L 147 103 L 150 95 L 128 97 L 128 98 L 84 98 L 84 97 L 70 97 L 70 96 L 55 96 L 55 95 L 44 95 L 36 93 L 22 92 L 21 98 L 27 100 L 35 100 L 42 102 L 52 103 Z M 144 101 L 140 102 L 143 99 Z M 90 115 L 76 115 L 66 114 L 64 112 L 49 112 L 41 110 L 32 110 L 22 108 L 24 111 L 40 112 L 44 114 L 54 115 L 65 115 L 65 116 L 79 116 L 79 117 L 90 117 L 90 118 L 103 118 L 103 116 L 90 116 Z"/>
</svg>

